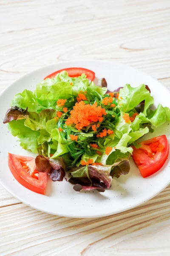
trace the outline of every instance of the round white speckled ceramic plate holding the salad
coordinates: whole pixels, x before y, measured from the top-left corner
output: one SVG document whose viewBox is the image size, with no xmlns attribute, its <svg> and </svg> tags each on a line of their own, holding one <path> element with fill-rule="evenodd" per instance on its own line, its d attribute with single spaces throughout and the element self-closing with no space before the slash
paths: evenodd
<svg viewBox="0 0 170 256">
<path fill-rule="evenodd" d="M 76 192 L 71 183 L 52 182 L 48 180 L 46 195 L 36 194 L 18 183 L 11 174 L 8 163 L 8 152 L 13 154 L 35 157 L 20 148 L 17 138 L 13 137 L 3 125 L 3 118 L 10 102 L 16 93 L 24 89 L 34 90 L 36 84 L 48 74 L 66 67 L 85 67 L 93 70 L 96 77 L 105 77 L 108 89 L 113 90 L 126 83 L 133 87 L 147 84 L 155 105 L 161 103 L 170 107 L 170 92 L 159 81 L 138 70 L 126 65 L 105 61 L 71 61 L 54 64 L 33 71 L 17 80 L 0 96 L 0 182 L 2 185 L 23 203 L 40 211 L 68 217 L 99 217 L 123 212 L 149 200 L 170 183 L 170 157 L 163 168 L 148 178 L 142 178 L 133 160 L 130 163 L 130 172 L 119 179 L 113 178 L 111 189 L 104 193 L 97 191 Z M 147 134 L 143 140 L 166 134 L 170 138 L 170 129 L 166 123 L 157 128 L 153 134 Z"/>
</svg>

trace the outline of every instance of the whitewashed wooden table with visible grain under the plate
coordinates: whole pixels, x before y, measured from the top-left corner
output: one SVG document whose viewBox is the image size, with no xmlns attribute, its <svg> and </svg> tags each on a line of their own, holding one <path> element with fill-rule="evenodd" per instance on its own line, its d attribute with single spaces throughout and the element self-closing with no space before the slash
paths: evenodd
<svg viewBox="0 0 170 256">
<path fill-rule="evenodd" d="M 39 67 L 117 60 L 170 87 L 170 0 L 0 0 L 0 91 Z M 169 256 L 170 186 L 110 217 L 65 218 L 0 186 L 0 256 Z"/>
</svg>

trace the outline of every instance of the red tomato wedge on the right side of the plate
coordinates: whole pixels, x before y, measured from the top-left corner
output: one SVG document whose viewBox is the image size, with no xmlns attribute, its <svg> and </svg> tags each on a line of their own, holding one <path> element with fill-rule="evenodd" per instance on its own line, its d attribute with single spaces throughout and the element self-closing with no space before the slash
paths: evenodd
<svg viewBox="0 0 170 256">
<path fill-rule="evenodd" d="M 167 160 L 169 144 L 167 137 L 161 135 L 139 143 L 140 148 L 133 146 L 133 160 L 142 177 L 148 177 L 159 171 Z"/>
</svg>

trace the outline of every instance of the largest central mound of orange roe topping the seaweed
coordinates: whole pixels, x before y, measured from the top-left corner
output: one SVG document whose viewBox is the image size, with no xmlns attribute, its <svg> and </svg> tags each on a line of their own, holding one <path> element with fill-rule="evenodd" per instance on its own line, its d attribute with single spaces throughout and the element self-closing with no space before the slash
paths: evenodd
<svg viewBox="0 0 170 256">
<path fill-rule="evenodd" d="M 83 127 L 86 127 L 91 124 L 91 122 L 102 122 L 103 115 L 106 115 L 104 108 L 100 106 L 97 107 L 97 104 L 93 105 L 86 104 L 85 102 L 77 102 L 73 107 L 73 110 L 70 111 L 70 117 L 66 120 L 66 125 L 75 124 L 78 130 L 81 130 Z"/>
</svg>

